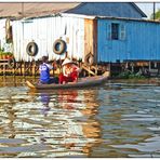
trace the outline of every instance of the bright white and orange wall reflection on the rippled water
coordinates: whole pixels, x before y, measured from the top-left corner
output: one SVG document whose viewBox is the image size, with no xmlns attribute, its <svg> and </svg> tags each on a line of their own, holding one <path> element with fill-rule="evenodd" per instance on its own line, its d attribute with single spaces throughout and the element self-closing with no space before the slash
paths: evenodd
<svg viewBox="0 0 160 160">
<path fill-rule="evenodd" d="M 101 143 L 95 91 L 26 91 L 1 98 L 0 157 L 89 157 Z"/>
</svg>

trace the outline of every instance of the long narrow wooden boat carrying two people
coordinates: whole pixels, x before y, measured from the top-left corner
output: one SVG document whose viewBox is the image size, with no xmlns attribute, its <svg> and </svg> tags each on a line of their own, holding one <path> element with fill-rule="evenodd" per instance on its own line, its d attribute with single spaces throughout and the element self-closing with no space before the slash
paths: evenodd
<svg viewBox="0 0 160 160">
<path fill-rule="evenodd" d="M 69 82 L 66 84 L 34 84 L 30 81 L 26 81 L 26 84 L 29 89 L 35 90 L 58 90 L 58 89 L 69 89 L 69 88 L 85 88 L 85 86 L 95 86 L 105 82 L 109 77 L 109 72 L 106 71 L 102 76 L 85 77 L 80 78 L 78 82 Z"/>
</svg>

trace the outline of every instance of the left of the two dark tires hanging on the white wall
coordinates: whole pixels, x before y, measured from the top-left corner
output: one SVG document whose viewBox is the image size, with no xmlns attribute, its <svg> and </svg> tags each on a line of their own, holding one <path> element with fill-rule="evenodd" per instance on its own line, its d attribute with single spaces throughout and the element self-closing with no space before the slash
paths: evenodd
<svg viewBox="0 0 160 160">
<path fill-rule="evenodd" d="M 35 56 L 38 53 L 38 45 L 36 42 L 29 42 L 26 48 L 26 52 L 29 56 Z"/>
</svg>

